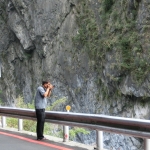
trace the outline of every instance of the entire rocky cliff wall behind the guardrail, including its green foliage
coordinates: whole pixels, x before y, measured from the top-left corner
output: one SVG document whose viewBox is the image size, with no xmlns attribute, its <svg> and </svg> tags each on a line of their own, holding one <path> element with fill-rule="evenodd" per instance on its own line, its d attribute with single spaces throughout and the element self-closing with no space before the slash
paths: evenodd
<svg viewBox="0 0 150 150">
<path fill-rule="evenodd" d="M 56 87 L 56 110 L 149 119 L 148 0 L 0 0 L 0 99 L 32 102 L 38 85 Z M 95 132 L 77 141 L 95 143 Z M 108 149 L 143 140 L 104 134 Z"/>
</svg>

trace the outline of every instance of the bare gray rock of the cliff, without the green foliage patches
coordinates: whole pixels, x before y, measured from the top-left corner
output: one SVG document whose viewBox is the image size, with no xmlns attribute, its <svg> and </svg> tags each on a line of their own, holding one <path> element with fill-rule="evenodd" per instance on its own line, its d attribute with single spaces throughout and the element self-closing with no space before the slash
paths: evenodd
<svg viewBox="0 0 150 150">
<path fill-rule="evenodd" d="M 97 72 L 90 67 L 89 55 L 81 51 L 80 46 L 74 47 L 72 40 L 79 34 L 76 22 L 79 2 L 0 0 L 0 99 L 9 106 L 14 106 L 20 95 L 26 103 L 32 102 L 36 88 L 42 80 L 48 79 L 56 86 L 49 103 L 62 97 L 67 98 L 65 104 L 56 108 L 58 111 L 66 111 L 65 106 L 70 104 L 73 112 L 149 119 L 149 77 L 138 86 L 127 74 L 118 87 L 121 97 L 107 101 L 100 94 L 97 100 L 101 90 L 96 83 Z M 89 2 L 100 25 L 100 2 Z M 132 16 L 130 9 L 134 7 L 135 1 L 127 2 L 128 15 Z M 141 1 L 137 16 L 137 29 L 142 35 L 145 52 L 148 52 L 149 36 L 143 28 L 149 23 L 149 5 L 148 0 Z M 121 76 L 120 70 L 113 67 L 118 54 L 114 49 L 107 52 L 105 57 L 101 78 L 108 93 L 113 95 L 117 86 L 113 84 L 112 78 Z M 145 96 L 145 101 L 138 101 Z M 79 134 L 75 140 L 95 144 L 95 136 L 92 131 L 89 135 Z M 104 133 L 104 145 L 113 150 L 142 150 L 143 140 Z"/>
</svg>

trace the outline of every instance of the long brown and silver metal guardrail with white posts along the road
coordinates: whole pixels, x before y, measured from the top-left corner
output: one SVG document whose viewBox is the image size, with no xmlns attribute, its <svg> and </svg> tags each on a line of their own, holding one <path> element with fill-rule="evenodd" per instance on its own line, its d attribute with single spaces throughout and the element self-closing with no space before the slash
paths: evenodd
<svg viewBox="0 0 150 150">
<path fill-rule="evenodd" d="M 0 107 L 0 115 L 18 119 L 36 120 L 35 110 L 31 109 Z M 5 126 L 5 120 L 6 119 L 2 117 L 2 127 Z M 145 139 L 144 149 L 150 150 L 150 120 L 98 114 L 46 111 L 45 121 L 62 124 L 64 126 L 78 126 L 96 130 L 97 150 L 103 149 L 102 131 L 143 138 Z M 21 130 L 22 122 L 20 121 L 19 124 L 18 129 Z"/>
</svg>

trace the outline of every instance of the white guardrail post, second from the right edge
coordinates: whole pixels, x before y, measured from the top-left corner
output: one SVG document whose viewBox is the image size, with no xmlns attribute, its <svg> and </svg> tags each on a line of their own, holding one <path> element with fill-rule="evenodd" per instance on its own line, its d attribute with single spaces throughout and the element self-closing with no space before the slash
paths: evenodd
<svg viewBox="0 0 150 150">
<path fill-rule="evenodd" d="M 96 134 L 97 134 L 97 137 L 96 137 L 97 148 L 96 148 L 96 150 L 103 150 L 103 131 L 96 130 Z"/>
</svg>

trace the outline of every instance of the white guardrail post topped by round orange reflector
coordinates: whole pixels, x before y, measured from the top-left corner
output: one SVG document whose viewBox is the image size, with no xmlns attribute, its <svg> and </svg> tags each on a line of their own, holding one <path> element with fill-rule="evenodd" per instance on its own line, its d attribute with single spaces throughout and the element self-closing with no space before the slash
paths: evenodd
<svg viewBox="0 0 150 150">
<path fill-rule="evenodd" d="M 71 109 L 71 106 L 67 105 L 66 110 L 69 112 Z M 69 126 L 63 126 L 63 142 L 69 141 Z"/>
</svg>

